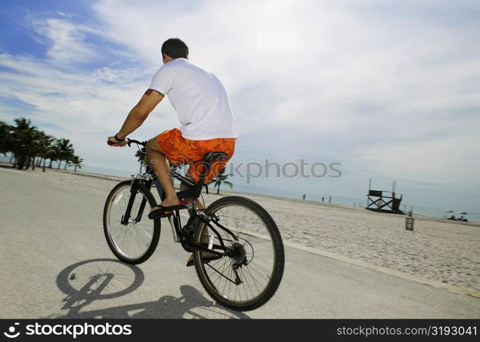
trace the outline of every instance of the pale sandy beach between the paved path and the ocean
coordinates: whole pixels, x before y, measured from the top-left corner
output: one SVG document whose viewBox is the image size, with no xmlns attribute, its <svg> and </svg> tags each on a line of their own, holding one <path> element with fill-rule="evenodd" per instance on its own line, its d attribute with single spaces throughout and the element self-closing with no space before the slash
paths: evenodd
<svg viewBox="0 0 480 342">
<path fill-rule="evenodd" d="M 47 169 L 43 173 L 41 168 L 23 172 L 105 197 L 118 181 L 125 179 L 68 170 Z M 205 202 L 208 205 L 228 194 L 246 196 L 265 207 L 285 241 L 480 291 L 480 224 L 414 215 L 414 231 L 407 231 L 404 215 L 225 190 L 220 195 L 205 196 Z"/>
</svg>

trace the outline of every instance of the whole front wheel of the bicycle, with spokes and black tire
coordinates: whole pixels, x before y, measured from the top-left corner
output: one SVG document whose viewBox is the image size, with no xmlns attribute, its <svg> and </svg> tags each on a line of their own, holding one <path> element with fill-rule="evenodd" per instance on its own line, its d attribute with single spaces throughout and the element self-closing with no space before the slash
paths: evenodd
<svg viewBox="0 0 480 342">
<path fill-rule="evenodd" d="M 103 232 L 110 250 L 118 259 L 125 263 L 139 264 L 147 261 L 157 248 L 160 218 L 157 220 L 148 218 L 151 207 L 157 205 L 157 202 L 151 192 L 144 185 L 140 185 L 131 208 L 129 224 L 121 224 L 132 195 L 130 190 L 131 181 L 123 181 L 108 195 L 103 209 Z M 142 201 L 144 209 L 141 220 L 138 221 Z"/>
</svg>

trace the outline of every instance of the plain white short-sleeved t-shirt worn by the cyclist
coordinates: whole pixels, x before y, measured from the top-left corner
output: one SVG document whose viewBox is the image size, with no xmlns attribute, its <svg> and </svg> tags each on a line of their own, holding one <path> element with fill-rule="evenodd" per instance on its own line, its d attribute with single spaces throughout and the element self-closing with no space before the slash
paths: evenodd
<svg viewBox="0 0 480 342">
<path fill-rule="evenodd" d="M 238 137 L 227 92 L 212 72 L 185 58 L 168 62 L 157 71 L 150 89 L 168 96 L 188 140 Z"/>
</svg>

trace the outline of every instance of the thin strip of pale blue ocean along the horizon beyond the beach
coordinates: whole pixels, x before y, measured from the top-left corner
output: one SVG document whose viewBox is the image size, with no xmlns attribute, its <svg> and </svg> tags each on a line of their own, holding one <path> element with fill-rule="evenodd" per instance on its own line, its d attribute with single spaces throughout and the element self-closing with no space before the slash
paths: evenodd
<svg viewBox="0 0 480 342">
<path fill-rule="evenodd" d="M 3 156 L 0 155 L 0 160 L 2 161 L 9 161 L 10 156 Z M 48 163 L 47 163 L 48 165 Z M 62 164 L 63 165 L 63 164 Z M 54 162 L 53 166 L 56 168 L 57 164 Z M 61 166 L 60 168 L 64 168 Z M 68 170 L 73 170 L 73 168 L 68 168 Z M 108 168 L 96 168 L 93 166 L 84 166 L 81 168 L 83 172 L 90 172 L 95 174 L 107 174 L 112 176 L 124 176 L 124 177 L 131 177 L 134 174 L 137 174 L 139 169 L 125 171 L 125 170 L 114 170 Z M 223 185 L 221 189 L 229 190 L 230 187 L 227 185 Z M 264 187 L 253 187 L 249 185 L 233 185 L 233 190 L 238 192 L 249 192 L 252 194 L 259 194 L 259 195 L 270 195 L 270 196 L 279 196 L 285 198 L 295 198 L 301 200 L 303 198 L 303 192 L 295 192 L 285 189 L 270 189 Z M 216 191 L 211 189 L 210 191 Z M 351 197 L 341 197 L 335 196 L 333 194 L 305 194 L 305 200 L 314 200 L 316 202 L 322 202 L 322 197 L 324 198 L 324 202 L 329 202 L 329 196 L 331 196 L 331 203 L 338 204 L 338 205 L 346 205 L 349 207 L 365 207 L 367 203 L 366 196 L 364 198 L 351 198 Z M 462 216 L 458 214 L 458 211 L 462 211 L 462 209 L 452 209 L 454 213 L 446 213 L 444 209 L 441 208 L 432 208 L 432 207 L 421 207 L 418 205 L 409 205 L 408 202 L 401 203 L 400 209 L 403 211 L 409 211 L 412 209 L 413 213 L 416 215 L 423 215 L 423 216 L 430 216 L 433 218 L 449 218 L 451 215 L 455 215 L 456 218 Z M 451 208 L 449 208 L 451 209 Z M 468 212 L 468 215 L 463 215 L 469 222 L 480 222 L 480 213 L 472 213 Z"/>
</svg>

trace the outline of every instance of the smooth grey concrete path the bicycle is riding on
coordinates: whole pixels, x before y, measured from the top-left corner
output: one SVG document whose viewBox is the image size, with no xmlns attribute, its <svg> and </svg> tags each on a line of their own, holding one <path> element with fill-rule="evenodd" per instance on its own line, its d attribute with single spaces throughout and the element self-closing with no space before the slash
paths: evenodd
<svg viewBox="0 0 480 342">
<path fill-rule="evenodd" d="M 8 168 L 0 189 L 0 318 L 480 318 L 472 296 L 290 246 L 275 296 L 229 311 L 212 305 L 165 225 L 147 262 L 116 261 L 101 224 L 106 193 Z"/>
</svg>

